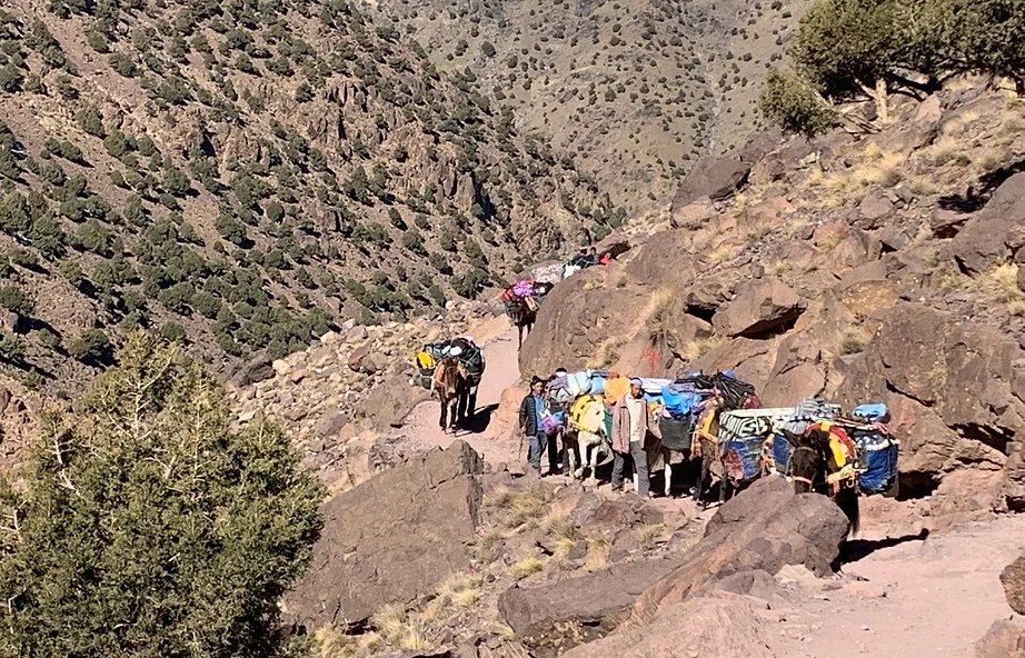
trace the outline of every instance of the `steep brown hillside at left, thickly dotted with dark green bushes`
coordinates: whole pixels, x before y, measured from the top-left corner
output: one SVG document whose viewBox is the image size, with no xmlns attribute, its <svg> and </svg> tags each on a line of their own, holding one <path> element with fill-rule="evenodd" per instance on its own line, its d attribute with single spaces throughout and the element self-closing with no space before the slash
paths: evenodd
<svg viewBox="0 0 1025 658">
<path fill-rule="evenodd" d="M 361 11 L 4 3 L 4 375 L 69 392 L 136 326 L 225 369 L 279 357 L 621 218 L 472 76 Z"/>
</svg>

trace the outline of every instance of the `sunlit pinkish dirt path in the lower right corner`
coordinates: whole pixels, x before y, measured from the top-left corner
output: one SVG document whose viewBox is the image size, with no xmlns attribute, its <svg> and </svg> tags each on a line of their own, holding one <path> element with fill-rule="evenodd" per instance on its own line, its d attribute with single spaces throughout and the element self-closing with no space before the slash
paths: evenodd
<svg viewBox="0 0 1025 658">
<path fill-rule="evenodd" d="M 964 658 L 1011 617 L 999 574 L 1025 550 L 1025 516 L 965 524 L 878 548 L 843 569 L 846 585 L 794 586 L 766 628 L 788 658 Z M 864 545 L 863 545 L 864 546 Z M 885 546 L 885 545 L 884 545 Z M 817 591 L 816 591 L 817 589 Z"/>
</svg>

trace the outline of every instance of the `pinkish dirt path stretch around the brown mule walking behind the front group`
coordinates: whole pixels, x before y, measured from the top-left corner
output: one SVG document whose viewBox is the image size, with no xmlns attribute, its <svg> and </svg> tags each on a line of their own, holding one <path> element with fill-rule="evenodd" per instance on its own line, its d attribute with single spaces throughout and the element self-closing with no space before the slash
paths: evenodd
<svg viewBox="0 0 1025 658">
<path fill-rule="evenodd" d="M 480 389 L 477 391 L 477 428 L 480 431 L 460 431 L 456 437 L 438 427 L 438 402 L 422 402 L 412 410 L 400 430 L 410 441 L 430 448 L 447 447 L 455 438 L 468 442 L 490 463 L 515 461 L 519 448 L 518 437 L 507 421 L 498 415 L 501 393 L 519 381 L 519 350 L 516 329 L 505 317 L 495 318 L 479 327 L 471 335 L 484 347 L 487 366 Z M 486 423 L 486 425 L 485 425 Z M 484 427 L 481 427 L 484 426 Z M 514 435 L 514 436 L 510 436 Z"/>
</svg>

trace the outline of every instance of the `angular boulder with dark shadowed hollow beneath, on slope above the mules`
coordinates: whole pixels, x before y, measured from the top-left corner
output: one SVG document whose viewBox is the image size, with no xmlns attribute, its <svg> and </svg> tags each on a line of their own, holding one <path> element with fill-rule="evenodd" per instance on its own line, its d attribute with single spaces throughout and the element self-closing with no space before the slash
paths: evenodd
<svg viewBox="0 0 1025 658">
<path fill-rule="evenodd" d="M 789 328 L 804 311 L 797 292 L 780 279 L 766 278 L 744 283 L 736 297 L 711 318 L 716 332 L 762 338 Z"/>
</svg>

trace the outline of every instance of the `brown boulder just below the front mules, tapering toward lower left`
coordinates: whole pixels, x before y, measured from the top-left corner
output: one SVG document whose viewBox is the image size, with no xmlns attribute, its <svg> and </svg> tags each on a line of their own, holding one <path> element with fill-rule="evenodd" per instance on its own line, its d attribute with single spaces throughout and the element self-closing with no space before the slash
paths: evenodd
<svg viewBox="0 0 1025 658">
<path fill-rule="evenodd" d="M 847 531 L 847 517 L 825 496 L 796 495 L 783 478 L 758 480 L 719 508 L 684 564 L 640 596 L 634 618 L 647 622 L 659 609 L 744 571 L 775 575 L 802 565 L 830 574 Z"/>
</svg>

